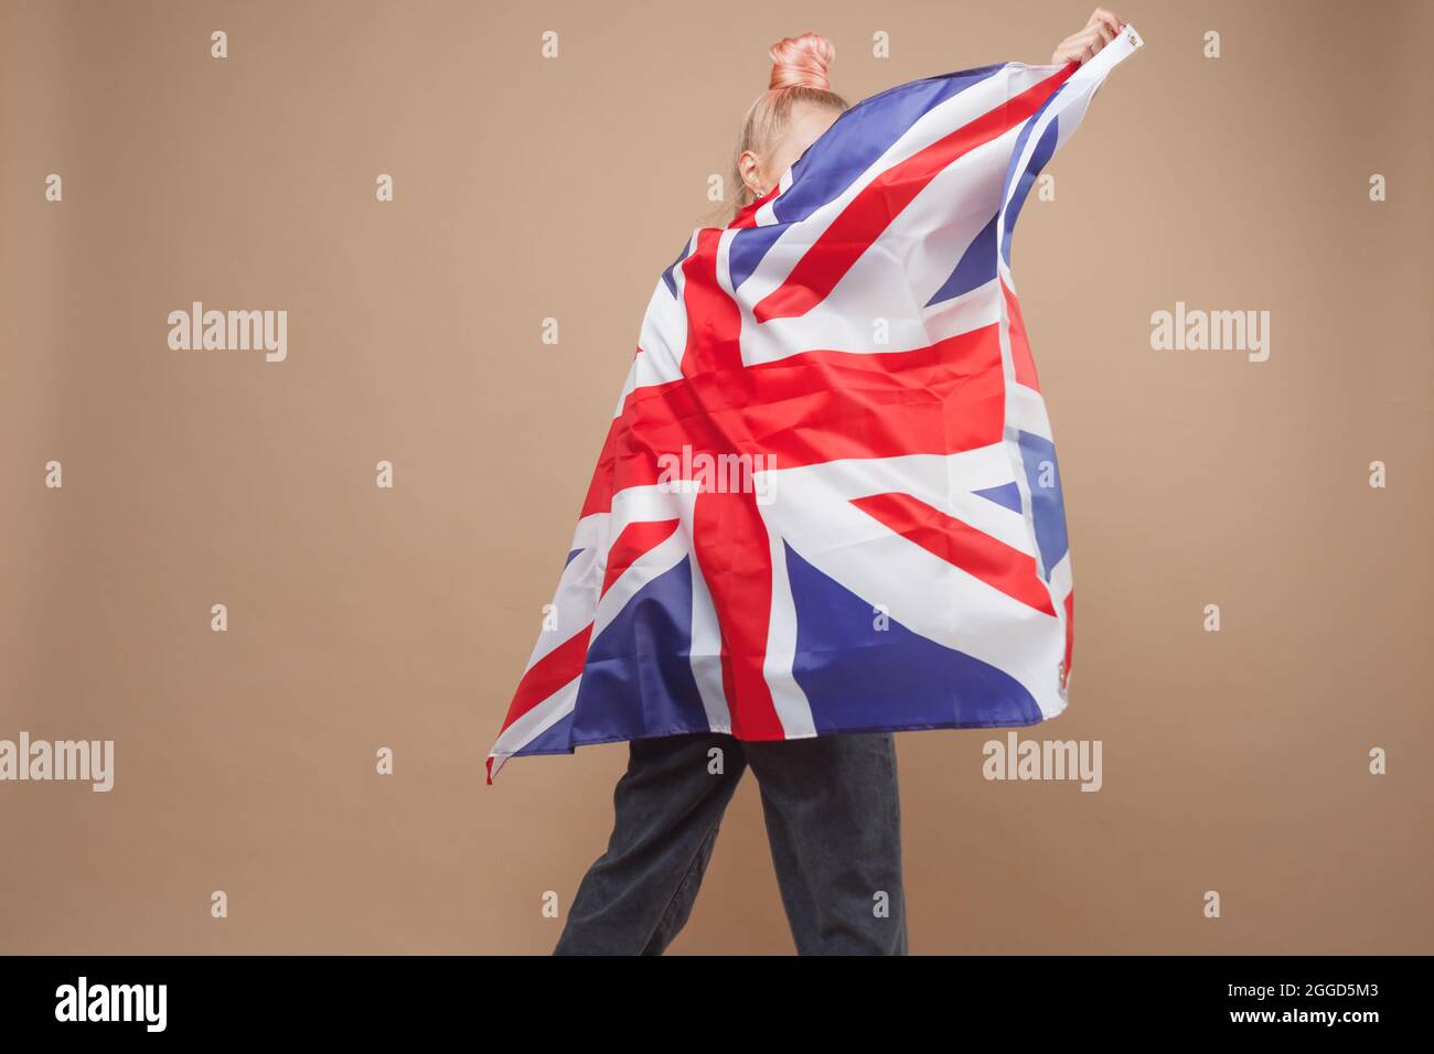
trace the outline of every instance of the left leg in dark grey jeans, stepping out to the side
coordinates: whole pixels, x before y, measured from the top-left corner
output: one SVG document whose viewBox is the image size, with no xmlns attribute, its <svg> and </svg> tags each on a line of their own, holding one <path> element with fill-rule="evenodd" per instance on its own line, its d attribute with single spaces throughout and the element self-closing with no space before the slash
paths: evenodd
<svg viewBox="0 0 1434 1054">
<path fill-rule="evenodd" d="M 710 771 L 713 747 L 723 751 L 720 774 Z M 661 955 L 693 911 L 744 769 L 730 736 L 631 743 L 612 793 L 612 837 L 578 886 L 554 954 Z"/>
</svg>

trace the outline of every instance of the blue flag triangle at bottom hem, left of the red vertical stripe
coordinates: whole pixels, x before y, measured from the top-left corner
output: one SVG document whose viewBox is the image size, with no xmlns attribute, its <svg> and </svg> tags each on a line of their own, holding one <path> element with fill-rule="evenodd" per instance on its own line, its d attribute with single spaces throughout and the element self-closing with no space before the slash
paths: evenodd
<svg viewBox="0 0 1434 1054">
<path fill-rule="evenodd" d="M 638 589 L 592 641 L 578 684 L 572 743 L 707 728 L 693 678 L 691 625 L 691 558 L 684 556 Z"/>
</svg>

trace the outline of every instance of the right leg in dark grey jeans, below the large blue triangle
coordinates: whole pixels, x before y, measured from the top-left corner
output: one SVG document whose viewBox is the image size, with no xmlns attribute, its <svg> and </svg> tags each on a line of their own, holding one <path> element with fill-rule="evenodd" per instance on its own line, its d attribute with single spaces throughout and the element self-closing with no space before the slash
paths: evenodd
<svg viewBox="0 0 1434 1054">
<path fill-rule="evenodd" d="M 800 955 L 905 955 L 891 734 L 743 743 Z"/>
</svg>

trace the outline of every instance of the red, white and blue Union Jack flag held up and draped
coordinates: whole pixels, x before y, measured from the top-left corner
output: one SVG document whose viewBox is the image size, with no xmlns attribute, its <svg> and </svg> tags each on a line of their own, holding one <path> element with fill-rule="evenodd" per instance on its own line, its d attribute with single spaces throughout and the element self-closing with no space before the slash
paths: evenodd
<svg viewBox="0 0 1434 1054">
<path fill-rule="evenodd" d="M 543 632 L 488 757 L 694 731 L 1027 726 L 1065 708 L 1071 558 L 1011 280 L 1084 66 L 842 113 L 661 275 Z"/>
</svg>

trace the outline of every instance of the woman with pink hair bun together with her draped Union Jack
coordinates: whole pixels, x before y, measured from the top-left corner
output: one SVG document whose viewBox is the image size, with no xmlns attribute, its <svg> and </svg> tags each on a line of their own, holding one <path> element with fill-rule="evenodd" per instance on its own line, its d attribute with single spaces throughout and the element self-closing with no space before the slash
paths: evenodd
<svg viewBox="0 0 1434 1054">
<path fill-rule="evenodd" d="M 833 49 L 812 33 L 771 47 L 731 221 L 698 229 L 657 284 L 555 632 L 489 754 L 492 780 L 512 756 L 630 741 L 608 849 L 556 954 L 661 954 L 747 767 L 797 951 L 905 954 L 891 731 L 1064 708 L 1064 511 L 1058 485 L 1024 475 L 1037 459 L 1050 472 L 1054 449 L 998 258 L 1108 59 L 1139 46 L 1129 32 L 1080 69 L 1121 30 L 1097 9 L 1055 49 L 1060 69 L 1002 63 L 873 96 L 804 159 L 847 110 L 826 79 Z M 905 327 L 895 347 L 862 336 L 866 304 Z M 695 489 L 673 492 L 655 463 L 678 446 L 684 460 L 779 450 L 761 453 L 763 479 L 817 489 L 763 511 L 746 488 L 695 480 L 693 462 Z M 898 631 L 883 609 L 870 619 L 889 588 L 906 591 Z"/>
</svg>

